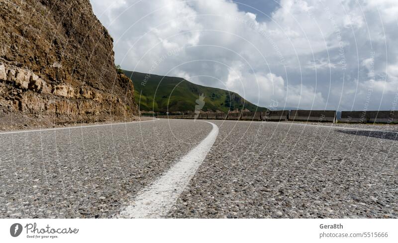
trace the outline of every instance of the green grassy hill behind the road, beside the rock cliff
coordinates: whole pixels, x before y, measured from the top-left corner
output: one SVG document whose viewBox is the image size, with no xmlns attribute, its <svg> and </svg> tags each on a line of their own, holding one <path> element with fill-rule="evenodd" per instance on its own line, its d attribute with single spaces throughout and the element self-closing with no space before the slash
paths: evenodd
<svg viewBox="0 0 398 243">
<path fill-rule="evenodd" d="M 205 96 L 202 111 L 267 110 L 253 105 L 234 92 L 193 84 L 183 78 L 122 71 L 134 82 L 134 95 L 141 111 L 194 111 L 200 94 Z"/>
</svg>

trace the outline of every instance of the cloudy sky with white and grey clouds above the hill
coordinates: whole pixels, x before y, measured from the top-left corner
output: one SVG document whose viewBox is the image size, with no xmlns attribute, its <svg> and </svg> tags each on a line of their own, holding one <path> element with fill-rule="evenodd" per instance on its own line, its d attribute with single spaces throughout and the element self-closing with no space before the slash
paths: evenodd
<svg viewBox="0 0 398 243">
<path fill-rule="evenodd" d="M 339 111 L 398 110 L 396 1 L 91 0 L 123 69 Z"/>
</svg>

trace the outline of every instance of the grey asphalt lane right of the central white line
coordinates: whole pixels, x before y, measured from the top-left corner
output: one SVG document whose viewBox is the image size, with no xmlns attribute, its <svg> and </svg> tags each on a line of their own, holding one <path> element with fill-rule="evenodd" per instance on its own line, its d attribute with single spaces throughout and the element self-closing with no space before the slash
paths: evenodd
<svg viewBox="0 0 398 243">
<path fill-rule="evenodd" d="M 397 125 L 213 122 L 218 138 L 169 217 L 398 217 L 398 133 L 363 130 Z"/>
</svg>

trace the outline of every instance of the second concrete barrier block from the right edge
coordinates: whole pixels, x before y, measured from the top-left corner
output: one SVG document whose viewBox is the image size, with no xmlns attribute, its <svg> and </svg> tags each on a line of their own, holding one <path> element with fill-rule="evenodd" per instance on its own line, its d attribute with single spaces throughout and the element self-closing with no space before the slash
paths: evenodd
<svg viewBox="0 0 398 243">
<path fill-rule="evenodd" d="M 289 121 L 336 122 L 336 111 L 292 110 Z"/>
</svg>

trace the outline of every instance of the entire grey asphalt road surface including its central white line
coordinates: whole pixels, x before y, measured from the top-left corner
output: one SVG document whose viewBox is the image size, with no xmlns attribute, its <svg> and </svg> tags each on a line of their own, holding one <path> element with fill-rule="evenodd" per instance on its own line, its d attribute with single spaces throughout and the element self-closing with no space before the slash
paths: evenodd
<svg viewBox="0 0 398 243">
<path fill-rule="evenodd" d="M 208 122 L 1 133 L 0 217 L 398 218 L 398 125 Z"/>
</svg>

